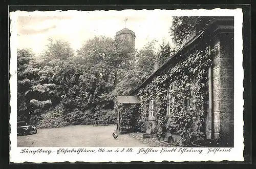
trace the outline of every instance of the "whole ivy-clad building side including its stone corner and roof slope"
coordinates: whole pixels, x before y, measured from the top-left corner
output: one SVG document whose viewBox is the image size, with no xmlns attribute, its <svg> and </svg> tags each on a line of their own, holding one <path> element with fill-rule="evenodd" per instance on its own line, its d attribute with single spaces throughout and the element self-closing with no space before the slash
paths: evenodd
<svg viewBox="0 0 256 169">
<path fill-rule="evenodd" d="M 233 141 L 233 40 L 233 18 L 216 19 L 132 93 L 141 97 L 144 132 L 179 135 L 183 145 Z"/>
</svg>

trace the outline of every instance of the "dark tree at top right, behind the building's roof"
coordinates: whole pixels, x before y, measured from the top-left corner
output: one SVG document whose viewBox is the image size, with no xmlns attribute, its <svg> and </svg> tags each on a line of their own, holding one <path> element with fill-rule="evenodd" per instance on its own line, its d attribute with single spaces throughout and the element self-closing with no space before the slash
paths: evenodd
<svg viewBox="0 0 256 169">
<path fill-rule="evenodd" d="M 173 36 L 174 43 L 177 46 L 183 45 L 189 38 L 190 32 L 201 30 L 210 22 L 209 16 L 174 16 L 170 35 Z"/>
</svg>

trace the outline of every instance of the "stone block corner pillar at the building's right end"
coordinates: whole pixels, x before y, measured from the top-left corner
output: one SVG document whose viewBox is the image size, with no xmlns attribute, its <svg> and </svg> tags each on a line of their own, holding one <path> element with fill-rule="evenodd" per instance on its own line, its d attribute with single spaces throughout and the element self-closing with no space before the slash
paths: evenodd
<svg viewBox="0 0 256 169">
<path fill-rule="evenodd" d="M 231 29 L 233 30 L 233 29 Z M 233 141 L 234 50 L 233 31 L 219 31 L 212 39 L 213 115 L 211 138 Z M 209 125 L 209 124 L 208 124 Z"/>
</svg>

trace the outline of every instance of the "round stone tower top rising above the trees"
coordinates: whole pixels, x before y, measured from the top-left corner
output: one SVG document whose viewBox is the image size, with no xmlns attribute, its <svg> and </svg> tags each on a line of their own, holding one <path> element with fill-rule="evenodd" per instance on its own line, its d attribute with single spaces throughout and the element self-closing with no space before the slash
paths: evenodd
<svg viewBox="0 0 256 169">
<path fill-rule="evenodd" d="M 135 33 L 127 28 L 124 28 L 116 33 L 116 39 L 128 40 L 135 48 Z"/>
</svg>

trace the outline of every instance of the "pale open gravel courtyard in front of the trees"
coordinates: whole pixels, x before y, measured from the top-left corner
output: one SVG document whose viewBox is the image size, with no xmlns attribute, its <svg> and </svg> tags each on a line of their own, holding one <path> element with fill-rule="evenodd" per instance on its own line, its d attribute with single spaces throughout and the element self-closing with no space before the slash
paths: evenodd
<svg viewBox="0 0 256 169">
<path fill-rule="evenodd" d="M 37 134 L 17 136 L 17 146 L 26 147 L 87 147 L 87 146 L 147 146 L 130 135 L 112 133 L 116 125 L 72 125 L 63 128 L 38 129 Z"/>
</svg>

